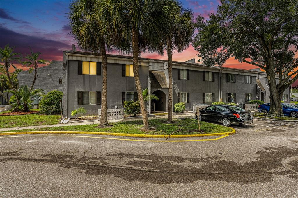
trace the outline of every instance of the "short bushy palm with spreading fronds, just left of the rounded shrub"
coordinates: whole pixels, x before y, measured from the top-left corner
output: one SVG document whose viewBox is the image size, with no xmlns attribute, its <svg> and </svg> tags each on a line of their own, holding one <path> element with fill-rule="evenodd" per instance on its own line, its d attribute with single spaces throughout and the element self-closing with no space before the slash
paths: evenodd
<svg viewBox="0 0 298 198">
<path fill-rule="evenodd" d="M 28 88 L 27 85 L 19 87 L 16 91 L 8 90 L 16 98 L 19 99 L 20 105 L 17 106 L 17 111 L 21 110 L 23 112 L 30 111 L 32 104 L 32 98 L 36 97 L 39 94 L 44 94 L 42 89 L 34 89 L 33 91 Z"/>
</svg>

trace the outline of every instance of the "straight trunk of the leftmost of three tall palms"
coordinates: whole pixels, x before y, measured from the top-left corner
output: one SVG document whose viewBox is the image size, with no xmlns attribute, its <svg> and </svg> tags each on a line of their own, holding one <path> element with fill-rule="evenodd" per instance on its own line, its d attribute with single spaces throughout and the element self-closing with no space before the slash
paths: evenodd
<svg viewBox="0 0 298 198">
<path fill-rule="evenodd" d="M 108 125 L 108 116 L 107 116 L 107 71 L 108 71 L 108 61 L 107 54 L 105 52 L 105 40 L 102 38 L 102 43 L 100 46 L 100 53 L 103 59 L 103 92 L 101 98 L 101 116 L 99 126 Z"/>
</svg>

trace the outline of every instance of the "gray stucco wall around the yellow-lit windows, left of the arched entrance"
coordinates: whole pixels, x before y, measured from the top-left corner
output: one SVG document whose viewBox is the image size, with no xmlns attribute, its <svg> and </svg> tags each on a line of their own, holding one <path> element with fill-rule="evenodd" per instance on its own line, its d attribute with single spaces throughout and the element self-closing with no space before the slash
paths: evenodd
<svg viewBox="0 0 298 198">
<path fill-rule="evenodd" d="M 147 88 L 148 66 L 139 66 L 139 76 L 142 89 Z M 115 106 L 122 108 L 122 92 L 136 92 L 134 77 L 122 76 L 122 65 L 108 63 L 108 92 L 107 92 L 107 107 L 113 109 Z M 102 69 L 101 69 L 102 72 Z M 98 114 L 98 109 L 101 105 L 77 105 L 78 91 L 97 91 L 102 92 L 102 73 L 96 75 L 78 75 L 77 61 L 68 61 L 68 117 L 74 109 L 84 107 L 87 109 L 87 114 Z M 66 112 L 64 112 L 66 115 Z"/>
</svg>

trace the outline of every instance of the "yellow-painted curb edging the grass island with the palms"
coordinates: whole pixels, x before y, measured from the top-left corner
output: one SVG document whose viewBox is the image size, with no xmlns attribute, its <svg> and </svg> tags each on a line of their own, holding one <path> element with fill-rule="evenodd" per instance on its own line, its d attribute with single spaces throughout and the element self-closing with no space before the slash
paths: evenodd
<svg viewBox="0 0 298 198">
<path fill-rule="evenodd" d="M 231 128 L 231 127 L 229 127 Z M 235 129 L 231 128 L 231 132 L 225 133 L 206 133 L 206 134 L 190 134 L 190 135 L 171 135 L 172 138 L 186 138 L 186 137 L 205 137 L 205 136 L 224 136 L 236 133 Z M 149 134 L 132 134 L 132 133 L 109 133 L 109 132 L 91 132 L 91 131 L 19 131 L 19 132 L 4 132 L 4 135 L 21 135 L 21 134 L 38 134 L 38 133 L 63 133 L 63 134 L 91 134 L 91 135 L 109 135 L 109 136 L 126 136 L 126 137 L 140 137 L 140 138 L 166 138 L 169 135 L 149 135 Z"/>
</svg>

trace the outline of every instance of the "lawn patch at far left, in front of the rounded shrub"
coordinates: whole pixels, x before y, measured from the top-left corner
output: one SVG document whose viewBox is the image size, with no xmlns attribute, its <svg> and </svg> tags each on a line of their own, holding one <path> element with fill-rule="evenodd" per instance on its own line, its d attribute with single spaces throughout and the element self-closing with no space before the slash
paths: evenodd
<svg viewBox="0 0 298 198">
<path fill-rule="evenodd" d="M 39 109 L 31 109 L 39 111 Z M 7 113 L 9 111 L 1 112 Z M 27 114 L 15 116 L 0 116 L 0 128 L 52 125 L 60 122 L 60 115 Z"/>
</svg>

